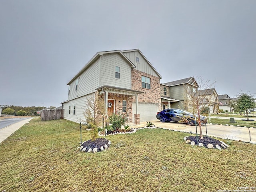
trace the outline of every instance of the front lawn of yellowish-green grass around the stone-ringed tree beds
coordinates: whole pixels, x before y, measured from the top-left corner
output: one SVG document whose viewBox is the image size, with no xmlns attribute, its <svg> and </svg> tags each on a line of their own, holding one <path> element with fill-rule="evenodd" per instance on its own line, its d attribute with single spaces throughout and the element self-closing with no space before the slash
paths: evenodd
<svg viewBox="0 0 256 192">
<path fill-rule="evenodd" d="M 255 186 L 256 145 L 223 140 L 226 150 L 185 144 L 163 129 L 107 136 L 96 154 L 76 150 L 79 125 L 33 119 L 0 144 L 0 192 L 205 192 Z M 83 130 L 82 138 L 90 139 Z M 220 139 L 222 140 L 222 139 Z"/>
</svg>

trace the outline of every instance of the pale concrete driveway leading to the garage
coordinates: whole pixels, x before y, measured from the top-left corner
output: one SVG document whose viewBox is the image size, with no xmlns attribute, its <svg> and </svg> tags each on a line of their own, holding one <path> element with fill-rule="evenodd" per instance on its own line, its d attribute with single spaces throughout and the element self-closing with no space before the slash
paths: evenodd
<svg viewBox="0 0 256 192">
<path fill-rule="evenodd" d="M 192 132 L 196 134 L 196 126 L 190 126 L 180 123 L 165 122 L 162 123 L 160 120 L 152 120 L 156 127 L 166 128 L 170 130 L 177 130 L 181 132 Z M 140 128 L 146 126 L 146 122 L 140 122 L 140 125 L 133 125 L 132 128 Z M 251 143 L 256 144 L 256 128 L 244 128 L 236 126 L 224 126 L 224 125 L 211 125 L 206 124 L 208 136 L 216 138 L 240 140 L 243 142 L 250 142 L 249 130 L 251 134 Z M 202 126 L 203 135 L 206 135 L 205 125 Z M 199 133 L 199 126 L 197 126 L 197 132 Z"/>
</svg>

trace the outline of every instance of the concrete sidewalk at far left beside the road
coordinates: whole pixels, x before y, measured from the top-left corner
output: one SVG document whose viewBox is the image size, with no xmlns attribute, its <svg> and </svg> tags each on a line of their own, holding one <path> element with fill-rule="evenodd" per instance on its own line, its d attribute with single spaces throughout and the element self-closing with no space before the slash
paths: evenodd
<svg viewBox="0 0 256 192">
<path fill-rule="evenodd" d="M 33 118 L 24 119 L 17 123 L 11 124 L 5 128 L 0 129 L 0 143 L 32 119 Z"/>
</svg>

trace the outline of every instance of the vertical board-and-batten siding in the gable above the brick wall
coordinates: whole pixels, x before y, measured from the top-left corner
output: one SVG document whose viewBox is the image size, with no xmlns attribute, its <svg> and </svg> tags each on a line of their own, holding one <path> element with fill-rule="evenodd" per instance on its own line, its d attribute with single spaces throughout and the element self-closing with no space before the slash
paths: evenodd
<svg viewBox="0 0 256 192">
<path fill-rule="evenodd" d="M 150 64 L 148 64 L 140 52 L 124 52 L 124 55 L 136 66 L 136 70 L 158 77 L 158 74 L 154 71 Z M 136 62 L 136 57 L 140 58 L 140 62 Z"/>
</svg>

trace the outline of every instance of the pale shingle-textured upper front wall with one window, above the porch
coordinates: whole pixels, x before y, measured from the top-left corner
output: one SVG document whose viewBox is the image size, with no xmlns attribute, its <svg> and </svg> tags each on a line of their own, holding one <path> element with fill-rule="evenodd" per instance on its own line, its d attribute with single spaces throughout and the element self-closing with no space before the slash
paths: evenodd
<svg viewBox="0 0 256 192">
<path fill-rule="evenodd" d="M 116 66 L 120 67 L 120 78 L 115 78 Z M 131 89 L 132 69 L 120 54 L 104 54 L 100 57 L 100 85 Z"/>
</svg>

